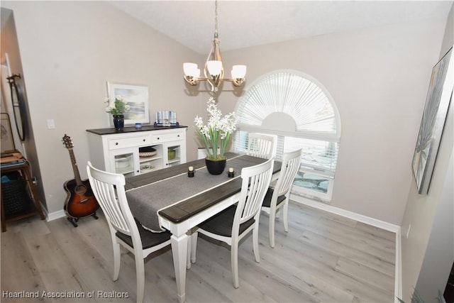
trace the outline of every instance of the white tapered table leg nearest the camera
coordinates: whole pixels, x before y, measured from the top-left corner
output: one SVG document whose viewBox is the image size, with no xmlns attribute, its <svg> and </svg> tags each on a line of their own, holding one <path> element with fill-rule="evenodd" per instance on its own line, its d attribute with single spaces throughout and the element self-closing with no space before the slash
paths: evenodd
<svg viewBox="0 0 454 303">
<path fill-rule="evenodd" d="M 187 261 L 187 234 L 170 237 L 172 244 L 173 266 L 175 268 L 175 280 L 177 281 L 178 302 L 186 300 L 186 261 Z"/>
</svg>

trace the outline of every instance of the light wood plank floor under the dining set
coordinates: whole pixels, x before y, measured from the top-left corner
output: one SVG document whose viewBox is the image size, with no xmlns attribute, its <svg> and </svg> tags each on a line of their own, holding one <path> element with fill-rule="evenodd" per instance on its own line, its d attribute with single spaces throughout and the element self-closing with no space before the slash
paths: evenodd
<svg viewBox="0 0 454 303">
<path fill-rule="evenodd" d="M 109 230 L 99 215 L 81 219 L 77 228 L 66 219 L 38 217 L 7 224 L 1 233 L 1 302 L 38 302 L 7 297 L 36 291 L 43 302 L 135 302 L 133 255 L 122 254 L 113 282 Z M 394 252 L 394 233 L 290 204 L 289 233 L 278 220 L 274 249 L 268 217 L 260 217 L 260 263 L 252 236 L 240 243 L 238 289 L 229 248 L 199 236 L 196 263 L 187 271 L 187 302 L 394 302 Z M 177 302 L 171 250 L 150 257 L 145 302 Z M 118 298 L 122 292 L 128 298 Z M 49 298 L 60 294 L 84 298 Z"/>
</svg>

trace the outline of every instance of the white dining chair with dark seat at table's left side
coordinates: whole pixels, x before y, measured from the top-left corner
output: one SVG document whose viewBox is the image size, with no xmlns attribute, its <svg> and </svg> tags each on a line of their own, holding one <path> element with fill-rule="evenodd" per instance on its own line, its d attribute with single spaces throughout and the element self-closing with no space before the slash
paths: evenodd
<svg viewBox="0 0 454 303">
<path fill-rule="evenodd" d="M 137 277 L 137 302 L 143 302 L 145 268 L 143 259 L 170 245 L 170 232 L 153 233 L 134 219 L 125 193 L 125 177 L 104 172 L 88 162 L 87 173 L 94 196 L 106 216 L 114 248 L 114 281 L 120 272 L 120 244 L 134 254 Z"/>
</svg>

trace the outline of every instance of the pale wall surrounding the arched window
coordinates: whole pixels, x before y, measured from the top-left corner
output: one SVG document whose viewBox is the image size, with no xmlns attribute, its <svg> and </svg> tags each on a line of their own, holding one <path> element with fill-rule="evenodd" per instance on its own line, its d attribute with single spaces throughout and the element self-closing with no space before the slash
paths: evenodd
<svg viewBox="0 0 454 303">
<path fill-rule="evenodd" d="M 400 225 L 419 123 L 445 20 L 365 28 L 223 53 L 245 62 L 248 82 L 301 70 L 333 96 L 341 115 L 332 206 Z M 221 94 L 220 108 L 235 102 Z"/>
</svg>

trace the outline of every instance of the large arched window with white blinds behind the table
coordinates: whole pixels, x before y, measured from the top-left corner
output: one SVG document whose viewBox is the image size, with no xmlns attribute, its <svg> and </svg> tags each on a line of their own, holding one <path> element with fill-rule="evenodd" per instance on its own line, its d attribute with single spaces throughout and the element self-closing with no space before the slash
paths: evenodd
<svg viewBox="0 0 454 303">
<path fill-rule="evenodd" d="M 293 192 L 331 200 L 341 120 L 336 104 L 316 79 L 295 70 L 279 70 L 256 79 L 236 105 L 237 152 L 245 152 L 248 133 L 275 136 L 275 156 L 303 148 Z"/>
</svg>

